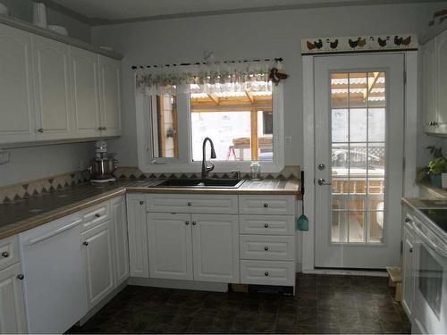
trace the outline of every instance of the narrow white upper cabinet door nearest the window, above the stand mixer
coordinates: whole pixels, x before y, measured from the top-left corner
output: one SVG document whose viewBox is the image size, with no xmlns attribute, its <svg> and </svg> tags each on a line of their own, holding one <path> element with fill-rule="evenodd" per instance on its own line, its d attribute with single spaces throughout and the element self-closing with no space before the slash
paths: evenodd
<svg viewBox="0 0 447 335">
<path fill-rule="evenodd" d="M 99 57 L 101 96 L 101 136 L 121 135 L 121 63 Z"/>
</svg>

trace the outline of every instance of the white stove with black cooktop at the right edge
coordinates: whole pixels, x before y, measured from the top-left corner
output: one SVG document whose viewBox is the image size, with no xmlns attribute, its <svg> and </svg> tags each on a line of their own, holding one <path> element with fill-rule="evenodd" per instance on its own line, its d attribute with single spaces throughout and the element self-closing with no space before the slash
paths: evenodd
<svg viewBox="0 0 447 335">
<path fill-rule="evenodd" d="M 414 331 L 447 333 L 447 209 L 415 217 Z M 436 224 L 434 224 L 436 222 Z"/>
</svg>

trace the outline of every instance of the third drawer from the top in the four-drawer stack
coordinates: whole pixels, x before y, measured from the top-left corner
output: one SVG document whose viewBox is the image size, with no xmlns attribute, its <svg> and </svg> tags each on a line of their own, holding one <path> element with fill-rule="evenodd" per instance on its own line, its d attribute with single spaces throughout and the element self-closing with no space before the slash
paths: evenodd
<svg viewBox="0 0 447 335">
<path fill-rule="evenodd" d="M 293 261 L 294 236 L 240 235 L 240 258 Z"/>
</svg>

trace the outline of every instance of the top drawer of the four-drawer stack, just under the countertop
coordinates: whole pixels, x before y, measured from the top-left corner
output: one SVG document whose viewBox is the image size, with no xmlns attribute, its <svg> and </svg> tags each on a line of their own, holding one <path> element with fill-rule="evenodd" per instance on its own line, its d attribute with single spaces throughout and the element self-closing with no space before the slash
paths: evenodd
<svg viewBox="0 0 447 335">
<path fill-rule="evenodd" d="M 240 214 L 295 214 L 295 197 L 292 196 L 240 196 Z"/>
</svg>

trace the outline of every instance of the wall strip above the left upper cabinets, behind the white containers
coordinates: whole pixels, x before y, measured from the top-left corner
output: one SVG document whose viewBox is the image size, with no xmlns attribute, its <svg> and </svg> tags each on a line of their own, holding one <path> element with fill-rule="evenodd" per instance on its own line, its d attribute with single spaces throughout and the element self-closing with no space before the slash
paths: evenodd
<svg viewBox="0 0 447 335">
<path fill-rule="evenodd" d="M 0 3 L 8 7 L 11 15 L 23 21 L 32 22 L 32 8 L 34 2 L 31 0 L 0 0 Z M 68 29 L 72 38 L 79 38 L 84 42 L 90 42 L 91 30 L 86 23 L 72 19 L 71 17 L 46 8 L 46 21 L 48 24 L 58 24 Z"/>
</svg>

